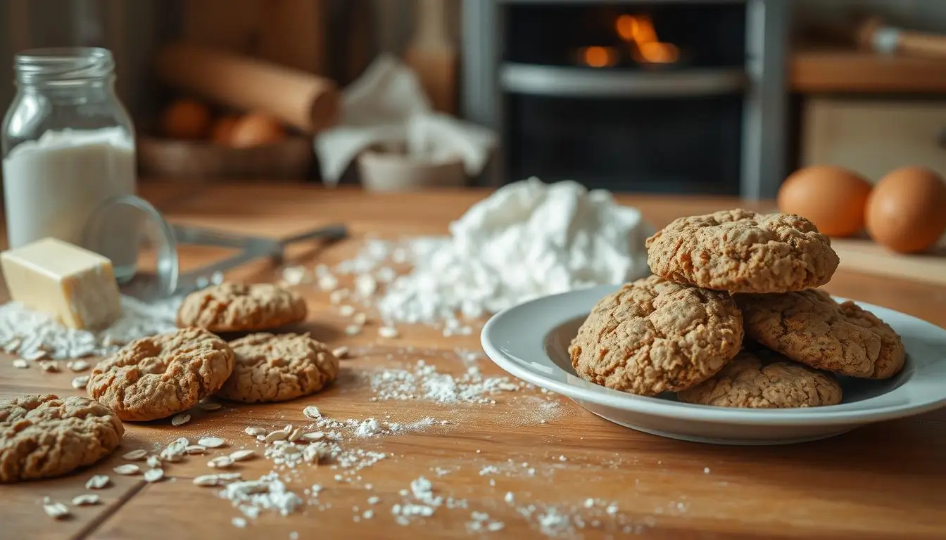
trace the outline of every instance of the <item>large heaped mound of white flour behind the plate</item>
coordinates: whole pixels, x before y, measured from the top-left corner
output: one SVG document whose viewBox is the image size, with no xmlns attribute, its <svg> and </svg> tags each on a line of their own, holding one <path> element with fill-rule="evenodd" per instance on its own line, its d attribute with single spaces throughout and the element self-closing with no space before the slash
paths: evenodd
<svg viewBox="0 0 946 540">
<path fill-rule="evenodd" d="M 644 241 L 653 234 L 637 209 L 619 205 L 608 191 L 536 178 L 499 188 L 449 231 L 370 242 L 335 270 L 387 283 L 376 301 L 387 322 L 449 324 L 458 315 L 482 317 L 646 273 Z M 409 263 L 412 271 L 394 277 L 391 262 Z"/>
</svg>

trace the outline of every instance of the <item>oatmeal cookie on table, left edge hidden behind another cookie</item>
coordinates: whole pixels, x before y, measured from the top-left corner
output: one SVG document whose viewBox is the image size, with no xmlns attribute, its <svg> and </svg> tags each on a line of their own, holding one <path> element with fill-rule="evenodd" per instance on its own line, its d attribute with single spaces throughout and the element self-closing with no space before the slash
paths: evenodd
<svg viewBox="0 0 946 540">
<path fill-rule="evenodd" d="M 319 392 L 339 375 L 339 359 L 308 334 L 251 334 L 230 342 L 236 360 L 219 395 L 245 403 Z"/>
</svg>

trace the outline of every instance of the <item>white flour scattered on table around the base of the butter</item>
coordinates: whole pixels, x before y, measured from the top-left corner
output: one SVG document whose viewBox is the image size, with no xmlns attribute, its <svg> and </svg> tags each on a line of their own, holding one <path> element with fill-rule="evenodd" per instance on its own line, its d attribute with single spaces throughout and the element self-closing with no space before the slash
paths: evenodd
<svg viewBox="0 0 946 540">
<path fill-rule="evenodd" d="M 104 356 L 138 338 L 177 329 L 174 322 L 181 298 L 145 304 L 122 296 L 122 315 L 98 332 L 69 328 L 43 313 L 16 302 L 0 305 L 0 343 L 20 357 L 78 358 Z"/>
</svg>

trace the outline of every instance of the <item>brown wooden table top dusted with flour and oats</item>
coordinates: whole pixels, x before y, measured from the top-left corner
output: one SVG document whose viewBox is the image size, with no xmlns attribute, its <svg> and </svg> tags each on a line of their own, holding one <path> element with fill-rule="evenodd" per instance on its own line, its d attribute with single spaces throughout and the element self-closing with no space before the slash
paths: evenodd
<svg viewBox="0 0 946 540">
<path fill-rule="evenodd" d="M 481 191 L 383 196 L 304 185 L 146 184 L 142 192 L 169 218 L 235 232 L 289 235 L 317 224 L 346 223 L 352 233 L 348 240 L 324 249 L 293 249 L 287 264 L 309 268 L 351 257 L 368 234 L 446 234 L 449 220 L 484 196 Z M 657 226 L 677 216 L 741 205 L 718 198 L 621 200 L 638 206 Z M 189 266 L 211 255 L 188 250 L 183 256 Z M 263 281 L 276 275 L 271 263 L 260 262 L 228 277 Z M 941 287 L 839 270 L 825 288 L 946 326 L 946 291 Z M 61 479 L 0 486 L 0 537 L 946 537 L 943 410 L 815 443 L 739 447 L 685 443 L 619 427 L 567 398 L 537 389 L 501 392 L 491 396 L 495 404 L 372 400 L 377 394 L 359 375 L 384 367 L 399 368 L 424 358 L 442 373 L 463 374 L 468 352 L 481 351 L 479 329 L 470 336 L 445 338 L 429 328 L 401 327 L 399 338 L 379 339 L 377 322 L 369 321 L 362 334 L 348 337 L 343 332 L 346 318 L 326 292 L 311 285 L 298 290 L 306 296 L 307 329 L 315 337 L 363 352 L 342 362 L 342 373 L 330 390 L 275 405 L 224 403 L 223 409 L 195 412 L 182 427 L 171 427 L 166 420 L 126 424 L 119 449 L 93 467 Z M 413 349 L 406 350 L 409 346 Z M 482 356 L 476 366 L 483 375 L 505 375 Z M 0 361 L 0 398 L 27 392 L 80 394 L 70 388 L 73 376 L 14 370 L 5 358 Z M 289 489 L 307 505 L 285 516 L 264 511 L 246 528 L 232 524 L 241 514 L 219 497 L 218 488 L 193 485 L 196 476 L 213 472 L 206 465 L 209 456 L 167 464 L 172 479 L 158 483 L 112 471 L 123 462 L 122 454 L 136 448 L 153 450 L 181 436 L 195 441 L 214 435 L 227 440 L 229 446 L 222 451 L 244 446 L 258 451 L 244 434 L 246 427 L 303 425 L 307 405 L 338 419 L 374 417 L 406 424 L 432 417 L 448 423 L 346 440 L 342 446 L 348 449 L 383 452 L 386 457 L 357 473 L 325 464 L 293 469 L 287 475 Z M 257 458 L 238 463 L 236 470 L 244 479 L 257 479 L 270 473 L 273 464 Z M 113 479 L 111 487 L 96 492 L 103 504 L 74 508 L 74 517 L 63 521 L 43 513 L 43 496 L 67 503 L 86 493 L 83 484 L 96 473 Z M 337 481 L 340 473 L 344 476 Z M 445 504 L 428 517 L 399 525 L 392 507 L 409 499 L 401 490 L 410 490 L 412 480 L 421 476 L 431 481 L 436 496 L 463 499 L 454 504 L 463 507 Z M 304 491 L 312 484 L 323 486 L 317 497 Z M 507 493 L 513 494 L 508 500 Z M 371 511 L 370 517 L 365 511 Z M 488 514 L 488 520 L 475 513 Z M 494 521 L 504 526 L 499 531 L 469 531 L 469 524 L 478 520 L 483 527 Z M 547 534 L 550 530 L 555 533 Z"/>
</svg>

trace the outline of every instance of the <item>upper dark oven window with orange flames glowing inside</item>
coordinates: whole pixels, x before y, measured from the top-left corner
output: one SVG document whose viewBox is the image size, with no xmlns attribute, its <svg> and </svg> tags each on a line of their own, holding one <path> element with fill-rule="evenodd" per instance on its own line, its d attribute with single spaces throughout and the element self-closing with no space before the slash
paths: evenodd
<svg viewBox="0 0 946 540">
<path fill-rule="evenodd" d="M 741 2 L 528 2 L 508 6 L 505 19 L 507 62 L 621 70 L 745 63 Z"/>
</svg>

